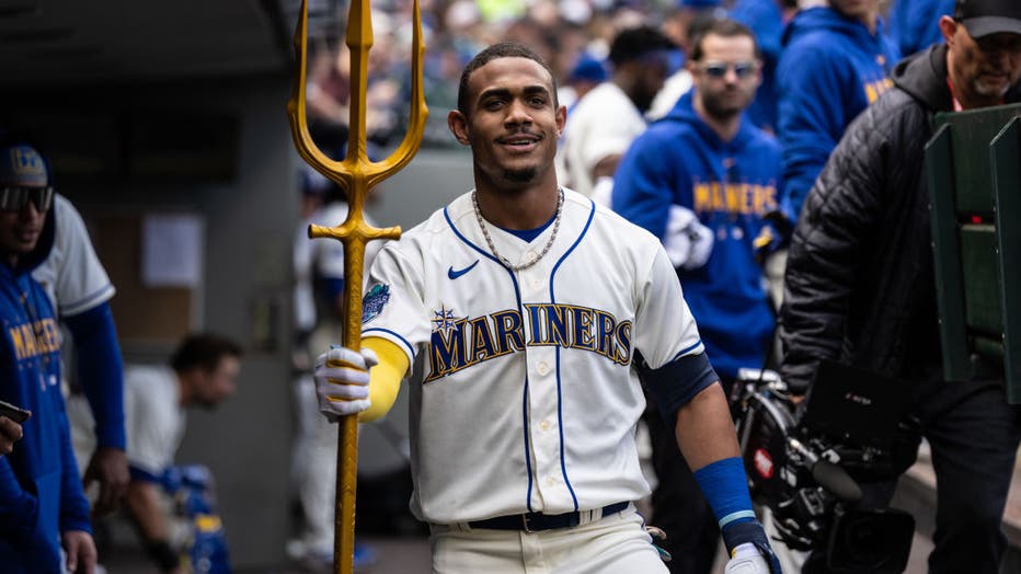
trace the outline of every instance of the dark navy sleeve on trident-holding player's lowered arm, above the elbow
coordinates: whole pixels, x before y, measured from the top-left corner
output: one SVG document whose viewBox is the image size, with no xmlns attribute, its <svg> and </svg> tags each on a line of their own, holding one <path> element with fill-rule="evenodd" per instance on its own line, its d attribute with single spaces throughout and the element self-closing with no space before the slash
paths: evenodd
<svg viewBox="0 0 1021 574">
<path fill-rule="evenodd" d="M 684 355 L 658 369 L 650 368 L 643 358 L 635 361 L 639 376 L 649 389 L 667 428 L 677 426 L 677 410 L 688 404 L 710 384 L 720 380 L 705 353 Z"/>
</svg>

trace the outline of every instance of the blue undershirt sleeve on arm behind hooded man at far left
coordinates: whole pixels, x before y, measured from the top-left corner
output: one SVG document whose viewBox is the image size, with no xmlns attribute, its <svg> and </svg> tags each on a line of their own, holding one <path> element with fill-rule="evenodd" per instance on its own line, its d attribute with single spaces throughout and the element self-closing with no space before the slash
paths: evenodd
<svg viewBox="0 0 1021 574">
<path fill-rule="evenodd" d="M 102 302 L 64 322 L 78 357 L 78 379 L 95 418 L 97 447 L 124 450 L 124 363 L 110 306 Z"/>
</svg>

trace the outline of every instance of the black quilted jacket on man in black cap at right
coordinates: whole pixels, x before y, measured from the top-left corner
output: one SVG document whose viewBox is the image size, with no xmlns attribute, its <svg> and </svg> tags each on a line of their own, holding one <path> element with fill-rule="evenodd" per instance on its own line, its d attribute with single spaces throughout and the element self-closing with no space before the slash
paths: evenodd
<svg viewBox="0 0 1021 574">
<path fill-rule="evenodd" d="M 937 45 L 897 65 L 895 88 L 851 123 L 805 202 L 780 311 L 780 370 L 795 391 L 823 358 L 905 379 L 940 372 L 924 159 L 934 113 L 952 108 L 945 55 Z"/>
</svg>

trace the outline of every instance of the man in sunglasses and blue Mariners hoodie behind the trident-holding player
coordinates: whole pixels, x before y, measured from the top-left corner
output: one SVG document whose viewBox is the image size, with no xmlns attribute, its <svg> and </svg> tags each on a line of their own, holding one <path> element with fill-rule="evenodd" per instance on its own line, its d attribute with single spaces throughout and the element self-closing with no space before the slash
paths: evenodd
<svg viewBox="0 0 1021 574">
<path fill-rule="evenodd" d="M 689 56 L 693 90 L 632 142 L 613 179 L 612 208 L 663 242 L 726 386 L 739 368 L 762 367 L 772 338 L 756 250 L 771 229 L 764 216 L 778 206 L 780 147 L 745 114 L 761 72 L 752 31 L 712 21 Z M 662 421 L 645 421 L 658 478 L 651 524 L 667 533 L 670 572 L 710 572 L 716 526 L 697 493 L 699 473 L 692 477 Z"/>
</svg>

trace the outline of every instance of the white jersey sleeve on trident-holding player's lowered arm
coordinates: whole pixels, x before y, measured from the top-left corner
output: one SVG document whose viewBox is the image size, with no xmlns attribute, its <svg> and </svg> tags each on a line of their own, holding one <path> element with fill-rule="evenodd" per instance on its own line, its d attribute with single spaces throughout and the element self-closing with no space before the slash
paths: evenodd
<svg viewBox="0 0 1021 574">
<path fill-rule="evenodd" d="M 657 369 L 677 357 L 705 351 L 688 309 L 677 272 L 662 246 L 656 249 L 647 279 L 640 285 L 634 318 L 634 347 Z"/>
</svg>

